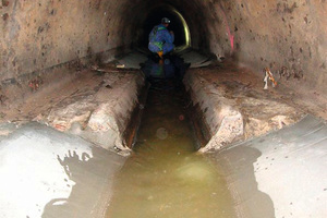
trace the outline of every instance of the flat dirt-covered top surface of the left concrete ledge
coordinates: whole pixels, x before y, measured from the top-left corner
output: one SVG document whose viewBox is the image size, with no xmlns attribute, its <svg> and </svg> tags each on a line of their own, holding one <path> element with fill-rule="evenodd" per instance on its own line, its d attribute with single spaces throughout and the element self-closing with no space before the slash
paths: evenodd
<svg viewBox="0 0 327 218">
<path fill-rule="evenodd" d="M 16 92 L 4 93 L 5 100 L 0 108 L 0 135 L 13 131 L 8 123 L 20 126 L 37 121 L 51 125 L 52 121 L 62 120 L 65 125 L 87 120 L 96 106 L 109 100 L 104 96 L 104 89 L 117 94 L 121 92 L 121 83 L 135 80 L 136 75 L 142 77 L 138 71 L 117 69 L 114 63 L 108 63 L 101 69 L 98 65 L 82 70 L 73 68 L 66 76 L 56 82 L 40 82 L 37 89 L 31 88 L 27 93 L 17 86 Z M 65 131 L 63 126 L 52 126 Z"/>
</svg>

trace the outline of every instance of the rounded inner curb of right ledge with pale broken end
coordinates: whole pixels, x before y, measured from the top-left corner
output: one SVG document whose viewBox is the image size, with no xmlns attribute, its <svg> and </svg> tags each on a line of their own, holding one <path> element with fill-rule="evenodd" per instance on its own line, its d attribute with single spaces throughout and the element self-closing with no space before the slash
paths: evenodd
<svg viewBox="0 0 327 218">
<path fill-rule="evenodd" d="M 242 114 L 231 100 L 195 73 L 186 73 L 184 84 L 193 105 L 198 104 L 210 134 L 209 142 L 199 152 L 219 149 L 243 135 Z"/>
</svg>

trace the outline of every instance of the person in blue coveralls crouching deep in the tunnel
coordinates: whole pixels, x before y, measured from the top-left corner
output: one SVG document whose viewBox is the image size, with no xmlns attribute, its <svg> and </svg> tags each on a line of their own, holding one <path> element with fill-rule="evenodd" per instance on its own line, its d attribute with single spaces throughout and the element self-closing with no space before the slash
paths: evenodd
<svg viewBox="0 0 327 218">
<path fill-rule="evenodd" d="M 161 19 L 161 24 L 155 26 L 149 34 L 148 49 L 157 53 L 160 59 L 174 49 L 173 40 L 174 34 L 168 31 L 167 27 L 170 20 L 167 17 Z"/>
</svg>

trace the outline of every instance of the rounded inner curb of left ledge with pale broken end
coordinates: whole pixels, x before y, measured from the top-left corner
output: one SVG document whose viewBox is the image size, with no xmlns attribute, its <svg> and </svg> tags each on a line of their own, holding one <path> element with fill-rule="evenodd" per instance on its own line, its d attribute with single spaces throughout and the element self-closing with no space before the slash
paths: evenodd
<svg viewBox="0 0 327 218">
<path fill-rule="evenodd" d="M 138 106 L 138 96 L 143 86 L 144 80 L 137 73 L 117 81 L 112 89 L 106 87 L 100 89 L 96 97 L 106 96 L 105 102 L 96 107 L 86 129 L 78 134 L 106 149 L 114 148 L 120 154 L 131 150 L 123 138 L 123 133 L 126 131 L 133 110 Z"/>
</svg>

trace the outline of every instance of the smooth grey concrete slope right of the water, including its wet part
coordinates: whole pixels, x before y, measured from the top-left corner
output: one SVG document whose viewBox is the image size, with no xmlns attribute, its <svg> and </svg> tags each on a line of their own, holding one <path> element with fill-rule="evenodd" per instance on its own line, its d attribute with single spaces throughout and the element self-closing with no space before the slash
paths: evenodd
<svg viewBox="0 0 327 218">
<path fill-rule="evenodd" d="M 299 123 L 211 155 L 240 217 L 327 217 L 327 125 Z"/>
</svg>

